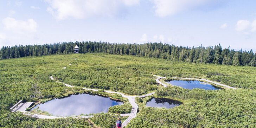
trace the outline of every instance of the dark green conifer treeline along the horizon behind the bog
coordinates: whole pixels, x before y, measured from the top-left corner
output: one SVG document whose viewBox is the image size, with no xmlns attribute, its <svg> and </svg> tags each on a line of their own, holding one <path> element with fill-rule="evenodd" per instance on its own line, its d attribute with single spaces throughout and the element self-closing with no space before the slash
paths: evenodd
<svg viewBox="0 0 256 128">
<path fill-rule="evenodd" d="M 250 51 L 235 51 L 222 49 L 219 45 L 209 47 L 184 47 L 162 43 L 146 44 L 113 44 L 106 42 L 69 42 L 45 45 L 16 45 L 3 46 L 0 50 L 0 58 L 19 58 L 26 56 L 46 56 L 51 54 L 68 54 L 74 52 L 75 46 L 79 47 L 79 53 L 109 53 L 115 55 L 132 55 L 138 57 L 153 57 L 170 59 L 173 61 L 191 63 L 209 63 L 223 65 L 249 65 L 256 66 L 256 54 Z"/>
</svg>

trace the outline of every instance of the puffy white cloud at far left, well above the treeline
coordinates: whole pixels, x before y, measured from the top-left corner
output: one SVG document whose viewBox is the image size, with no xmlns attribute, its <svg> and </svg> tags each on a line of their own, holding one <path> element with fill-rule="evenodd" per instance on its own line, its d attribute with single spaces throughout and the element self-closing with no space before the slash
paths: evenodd
<svg viewBox="0 0 256 128">
<path fill-rule="evenodd" d="M 33 19 L 28 19 L 27 21 L 16 20 L 14 18 L 5 18 L 2 20 L 4 28 L 18 33 L 23 32 L 36 32 L 37 23 Z"/>
</svg>

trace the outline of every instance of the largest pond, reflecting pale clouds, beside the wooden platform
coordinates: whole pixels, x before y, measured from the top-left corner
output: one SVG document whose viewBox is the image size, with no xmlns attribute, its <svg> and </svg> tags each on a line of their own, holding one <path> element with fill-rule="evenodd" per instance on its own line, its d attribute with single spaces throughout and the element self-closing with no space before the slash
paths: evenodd
<svg viewBox="0 0 256 128">
<path fill-rule="evenodd" d="M 123 102 L 111 100 L 109 97 L 78 94 L 38 104 L 32 110 L 39 107 L 40 110 L 47 111 L 53 116 L 79 116 L 80 114 L 106 113 L 109 107 L 120 104 Z"/>
</svg>

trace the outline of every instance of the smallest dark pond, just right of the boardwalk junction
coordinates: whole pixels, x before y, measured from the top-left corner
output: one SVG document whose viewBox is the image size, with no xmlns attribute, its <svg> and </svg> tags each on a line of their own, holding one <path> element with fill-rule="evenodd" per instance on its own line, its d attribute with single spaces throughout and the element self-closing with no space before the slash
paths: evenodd
<svg viewBox="0 0 256 128">
<path fill-rule="evenodd" d="M 173 108 L 175 106 L 179 106 L 182 104 L 179 101 L 175 101 L 167 98 L 152 98 L 147 101 L 146 106 L 148 107 L 165 107 L 165 108 Z"/>
</svg>

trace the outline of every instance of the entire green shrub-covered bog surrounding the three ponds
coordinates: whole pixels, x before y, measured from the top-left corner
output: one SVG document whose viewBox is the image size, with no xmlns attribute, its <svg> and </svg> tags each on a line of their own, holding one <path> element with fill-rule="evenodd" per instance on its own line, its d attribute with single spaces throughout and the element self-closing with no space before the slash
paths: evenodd
<svg viewBox="0 0 256 128">
<path fill-rule="evenodd" d="M 244 89 L 162 89 L 156 85 L 152 74 L 165 77 L 206 78 Z M 253 127 L 256 119 L 255 74 L 256 67 L 250 66 L 176 62 L 161 58 L 102 53 L 3 59 L 0 60 L 0 127 L 113 126 L 119 115 L 111 113 L 96 114 L 90 119 L 42 120 L 33 119 L 19 112 L 10 113 L 8 110 L 21 99 L 37 102 L 44 98 L 77 93 L 81 87 L 109 89 L 130 95 L 141 95 L 157 90 L 156 95 L 159 97 L 185 101 L 184 105 L 173 109 L 140 108 L 138 115 L 128 127 Z M 52 81 L 49 78 L 51 75 L 76 88 L 68 88 Z M 113 98 L 122 97 L 113 95 Z"/>
</svg>

